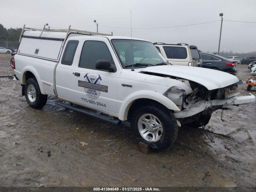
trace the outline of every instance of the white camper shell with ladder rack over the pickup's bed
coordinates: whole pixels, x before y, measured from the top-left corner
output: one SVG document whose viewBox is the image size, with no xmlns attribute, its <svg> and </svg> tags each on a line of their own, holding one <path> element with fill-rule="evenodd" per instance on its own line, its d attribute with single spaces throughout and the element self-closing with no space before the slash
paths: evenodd
<svg viewBox="0 0 256 192">
<path fill-rule="evenodd" d="M 18 54 L 32 56 L 36 58 L 59 61 L 60 53 L 66 38 L 78 35 L 108 35 L 95 32 L 70 29 L 41 29 L 26 28 L 25 25 L 20 36 L 20 46 Z"/>
</svg>

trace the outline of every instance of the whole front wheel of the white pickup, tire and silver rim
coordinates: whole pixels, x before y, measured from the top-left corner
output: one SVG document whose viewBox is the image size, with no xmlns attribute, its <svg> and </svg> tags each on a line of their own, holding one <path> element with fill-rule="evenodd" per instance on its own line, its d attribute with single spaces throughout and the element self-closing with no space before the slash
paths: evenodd
<svg viewBox="0 0 256 192">
<path fill-rule="evenodd" d="M 178 135 L 176 118 L 160 106 L 142 106 L 135 110 L 131 126 L 138 140 L 160 150 L 171 147 Z"/>
</svg>

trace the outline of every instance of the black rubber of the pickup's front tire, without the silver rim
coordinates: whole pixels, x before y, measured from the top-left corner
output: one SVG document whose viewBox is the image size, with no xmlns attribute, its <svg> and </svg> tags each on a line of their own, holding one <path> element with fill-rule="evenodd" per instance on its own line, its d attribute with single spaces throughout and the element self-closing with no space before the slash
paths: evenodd
<svg viewBox="0 0 256 192">
<path fill-rule="evenodd" d="M 156 116 L 159 119 L 160 123 L 162 124 L 162 136 L 160 140 L 156 142 L 150 142 L 145 140 L 139 132 L 138 122 L 140 117 L 145 114 L 152 114 Z M 138 140 L 145 142 L 149 144 L 151 147 L 160 150 L 165 150 L 171 147 L 176 141 L 178 135 L 178 124 L 173 113 L 157 105 L 142 106 L 136 109 L 131 117 L 131 127 L 134 129 L 134 132 L 138 137 Z"/>
</svg>

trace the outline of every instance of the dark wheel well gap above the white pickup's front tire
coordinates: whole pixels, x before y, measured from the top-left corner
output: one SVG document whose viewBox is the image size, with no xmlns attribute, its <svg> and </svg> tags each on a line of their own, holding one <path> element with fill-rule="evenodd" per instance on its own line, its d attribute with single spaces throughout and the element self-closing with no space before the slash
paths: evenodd
<svg viewBox="0 0 256 192">
<path fill-rule="evenodd" d="M 137 108 L 139 108 L 140 106 L 144 106 L 144 105 L 157 105 L 160 108 L 169 110 L 168 108 L 166 108 L 166 106 L 164 106 L 163 104 L 152 100 L 152 99 L 146 99 L 146 98 L 141 98 L 141 99 L 137 99 L 135 100 L 132 105 L 130 106 L 129 110 L 128 110 L 128 116 L 127 119 L 130 120 L 131 116 L 132 116 L 132 112 L 134 112 L 134 110 L 136 110 Z"/>
</svg>

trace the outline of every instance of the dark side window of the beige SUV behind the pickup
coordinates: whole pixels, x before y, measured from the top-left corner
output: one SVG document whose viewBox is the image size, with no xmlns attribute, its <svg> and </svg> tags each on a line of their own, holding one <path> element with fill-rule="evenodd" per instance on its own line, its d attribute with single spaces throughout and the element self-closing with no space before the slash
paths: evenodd
<svg viewBox="0 0 256 192">
<path fill-rule="evenodd" d="M 163 46 L 168 59 L 186 59 L 188 57 L 185 47 Z"/>
</svg>

